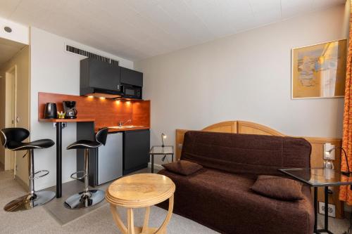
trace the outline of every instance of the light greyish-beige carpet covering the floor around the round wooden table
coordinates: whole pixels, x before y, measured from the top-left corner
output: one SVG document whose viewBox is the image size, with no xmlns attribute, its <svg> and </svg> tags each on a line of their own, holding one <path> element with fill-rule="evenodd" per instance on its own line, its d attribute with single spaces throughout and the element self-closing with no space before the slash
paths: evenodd
<svg viewBox="0 0 352 234">
<path fill-rule="evenodd" d="M 113 223 L 108 204 L 94 209 L 88 214 L 61 226 L 44 207 L 37 207 L 26 212 L 8 213 L 2 207 L 11 199 L 23 195 L 25 190 L 13 180 L 11 171 L 0 172 L 0 233 L 120 233 Z M 120 209 L 120 214 L 126 221 L 125 209 Z M 152 207 L 150 226 L 160 226 L 166 212 L 158 207 Z M 136 226 L 142 226 L 144 217 L 143 209 L 136 209 L 134 219 Z M 329 219 L 330 229 L 335 234 L 341 234 L 347 230 L 346 219 Z M 322 216 L 319 216 L 319 224 L 322 225 Z M 289 227 L 288 227 L 289 228 Z M 185 219 L 176 214 L 168 225 L 168 234 L 191 234 L 191 233 L 216 233 L 199 223 Z"/>
</svg>

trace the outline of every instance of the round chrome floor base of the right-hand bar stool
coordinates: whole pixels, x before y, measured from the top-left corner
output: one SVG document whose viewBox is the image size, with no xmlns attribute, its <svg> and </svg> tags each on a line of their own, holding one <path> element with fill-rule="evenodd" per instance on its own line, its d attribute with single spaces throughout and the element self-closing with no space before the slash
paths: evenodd
<svg viewBox="0 0 352 234">
<path fill-rule="evenodd" d="M 103 190 L 88 190 L 88 193 L 80 192 L 68 197 L 63 204 L 68 209 L 82 209 L 94 206 L 105 198 Z"/>
</svg>

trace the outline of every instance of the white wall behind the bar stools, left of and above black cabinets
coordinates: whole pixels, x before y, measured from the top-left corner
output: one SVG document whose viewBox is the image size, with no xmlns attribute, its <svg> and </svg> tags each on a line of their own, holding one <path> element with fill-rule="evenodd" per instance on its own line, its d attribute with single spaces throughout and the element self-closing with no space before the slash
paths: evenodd
<svg viewBox="0 0 352 234">
<path fill-rule="evenodd" d="M 64 51 L 65 44 L 108 56 L 120 61 L 122 67 L 133 68 L 130 60 L 98 51 L 75 41 L 58 37 L 49 32 L 31 28 L 31 140 L 50 138 L 56 141 L 56 129 L 53 124 L 38 122 L 38 92 L 80 95 L 80 60 L 84 57 Z M 63 183 L 70 180 L 70 174 L 76 171 L 75 150 L 65 150 L 76 141 L 76 124 L 70 123 L 63 129 Z M 56 185 L 56 146 L 34 152 L 36 170 L 48 169 L 49 176 L 35 181 L 39 190 Z"/>
</svg>

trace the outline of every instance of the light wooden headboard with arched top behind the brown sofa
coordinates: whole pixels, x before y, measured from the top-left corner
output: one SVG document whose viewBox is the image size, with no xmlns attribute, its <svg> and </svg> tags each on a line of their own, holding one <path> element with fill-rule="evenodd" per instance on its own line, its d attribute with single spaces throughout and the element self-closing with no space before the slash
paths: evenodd
<svg viewBox="0 0 352 234">
<path fill-rule="evenodd" d="M 186 133 L 186 129 L 176 129 L 176 160 L 180 160 L 182 144 L 184 139 L 184 134 Z M 246 121 L 227 121 L 220 122 L 218 124 L 213 124 L 207 126 L 200 131 L 214 131 L 214 132 L 223 132 L 223 133 L 232 133 L 232 134 L 259 134 L 259 135 L 270 135 L 270 136 L 288 136 L 280 133 L 274 129 L 271 129 L 268 126 L 264 126 L 261 124 L 256 124 L 253 122 Z M 298 136 L 297 136 L 298 137 Z M 341 147 L 341 139 L 340 138 L 321 138 L 321 137 L 306 137 L 299 136 L 305 138 L 309 141 L 310 145 L 312 145 L 312 153 L 310 155 L 310 167 L 322 167 L 323 166 L 323 154 L 324 154 L 324 144 L 331 143 L 336 147 Z M 340 150 L 335 152 L 336 160 L 334 160 L 334 168 L 339 171 L 341 165 L 341 158 L 337 155 L 341 155 Z M 324 191 L 322 188 L 318 189 L 318 200 L 324 201 Z M 334 188 L 334 193 L 329 195 L 329 203 L 334 204 L 336 206 L 336 217 L 338 219 L 344 218 L 344 206 L 343 202 L 339 201 L 339 187 Z"/>
</svg>

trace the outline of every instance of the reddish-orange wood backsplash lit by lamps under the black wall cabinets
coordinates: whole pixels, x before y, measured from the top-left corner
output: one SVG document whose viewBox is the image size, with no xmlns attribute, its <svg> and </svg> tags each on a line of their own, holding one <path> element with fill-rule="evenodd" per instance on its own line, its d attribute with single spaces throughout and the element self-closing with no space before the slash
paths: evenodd
<svg viewBox="0 0 352 234">
<path fill-rule="evenodd" d="M 58 93 L 38 93 L 38 119 L 44 118 L 46 103 L 56 103 L 58 111 L 63 111 L 63 101 L 76 101 L 77 118 L 95 119 L 95 127 L 118 126 L 118 122 L 131 119 L 127 125 L 150 127 L 150 100 L 112 100 Z"/>
</svg>

